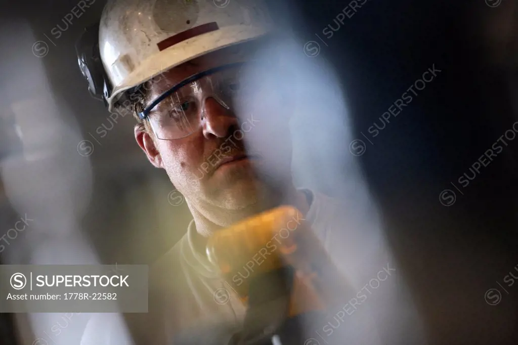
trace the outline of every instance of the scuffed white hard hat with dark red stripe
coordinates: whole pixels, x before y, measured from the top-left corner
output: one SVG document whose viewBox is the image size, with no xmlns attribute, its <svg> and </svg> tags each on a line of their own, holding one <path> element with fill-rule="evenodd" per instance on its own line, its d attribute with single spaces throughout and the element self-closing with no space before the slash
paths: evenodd
<svg viewBox="0 0 518 345">
<path fill-rule="evenodd" d="M 109 111 L 124 91 L 163 71 L 271 28 L 262 0 L 109 0 L 99 25 Z"/>
</svg>

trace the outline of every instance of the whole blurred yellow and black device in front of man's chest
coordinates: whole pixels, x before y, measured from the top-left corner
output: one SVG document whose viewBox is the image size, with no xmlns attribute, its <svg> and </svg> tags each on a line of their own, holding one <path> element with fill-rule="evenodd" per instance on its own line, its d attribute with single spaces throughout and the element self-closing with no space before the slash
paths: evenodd
<svg viewBox="0 0 518 345">
<path fill-rule="evenodd" d="M 290 206 L 214 234 L 207 255 L 248 308 L 242 332 L 229 343 L 304 343 L 311 339 L 308 329 L 320 325 L 326 311 L 351 290 L 303 214 Z M 257 269 L 246 280 L 239 278 L 238 272 L 244 267 L 251 270 L 254 261 Z M 352 340 L 354 332 L 346 328 Z"/>
</svg>

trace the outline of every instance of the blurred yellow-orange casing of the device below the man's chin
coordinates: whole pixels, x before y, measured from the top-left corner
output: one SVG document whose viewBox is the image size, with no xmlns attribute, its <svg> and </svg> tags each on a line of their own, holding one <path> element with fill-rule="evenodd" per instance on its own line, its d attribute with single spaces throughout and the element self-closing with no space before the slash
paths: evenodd
<svg viewBox="0 0 518 345">
<path fill-rule="evenodd" d="M 303 214 L 291 206 L 260 213 L 215 233 L 208 240 L 207 255 L 244 303 L 254 279 L 292 268 L 289 317 L 326 309 L 340 290 L 328 286 L 340 281 L 338 270 Z"/>
</svg>

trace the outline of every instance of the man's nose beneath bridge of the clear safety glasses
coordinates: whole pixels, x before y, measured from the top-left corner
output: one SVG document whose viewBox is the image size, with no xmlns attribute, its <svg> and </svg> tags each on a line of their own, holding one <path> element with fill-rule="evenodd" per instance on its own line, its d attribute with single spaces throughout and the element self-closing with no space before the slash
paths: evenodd
<svg viewBox="0 0 518 345">
<path fill-rule="evenodd" d="M 231 128 L 238 124 L 235 114 L 226 109 L 214 97 L 207 97 L 204 104 L 203 135 L 209 139 L 210 136 L 223 138 L 228 135 Z"/>
</svg>

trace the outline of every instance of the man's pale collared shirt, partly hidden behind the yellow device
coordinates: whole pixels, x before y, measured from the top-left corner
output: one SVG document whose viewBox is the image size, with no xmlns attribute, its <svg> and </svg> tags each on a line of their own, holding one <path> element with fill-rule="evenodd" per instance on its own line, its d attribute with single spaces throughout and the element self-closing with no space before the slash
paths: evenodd
<svg viewBox="0 0 518 345">
<path fill-rule="evenodd" d="M 313 339 L 310 343 L 324 345 L 337 340 L 333 336 L 338 335 L 338 330 L 341 337 L 347 334 L 348 339 L 340 338 L 341 341 L 354 344 L 398 343 L 401 336 L 408 340 L 411 334 L 419 337 L 421 325 L 406 293 L 406 285 L 380 226 L 372 227 L 373 223 L 379 224 L 373 208 L 366 211 L 368 207 L 357 205 L 355 209 L 323 194 L 304 192 L 312 199 L 305 220 L 355 291 L 351 296 L 345 296 L 343 305 L 336 306 L 336 313 L 331 312 L 322 322 L 308 325 L 308 339 Z M 155 317 L 148 319 L 153 320 L 149 327 L 154 329 L 143 328 L 147 328 L 145 332 L 157 335 L 153 339 L 156 345 L 169 344 L 176 335 L 189 330 L 199 335 L 204 328 L 238 329 L 246 313 L 235 291 L 218 276 L 207 257 L 194 249 L 195 235 L 192 221 L 177 245 L 150 270 L 150 293 L 154 295 L 150 296 L 150 313 Z M 152 286 L 156 286 L 154 292 Z M 95 345 L 131 344 L 121 342 L 128 341 L 122 330 L 119 338 L 104 336 L 111 339 L 98 341 L 103 337 L 100 333 L 117 332 L 116 328 L 107 327 L 110 322 L 106 315 L 113 315 L 113 323 L 120 322 L 117 314 L 104 314 L 103 322 L 93 318 L 83 339 L 94 333 Z M 137 323 L 146 324 L 144 321 Z M 105 326 L 94 327 L 95 324 Z M 94 343 L 81 342 L 81 345 L 91 344 Z"/>
</svg>

